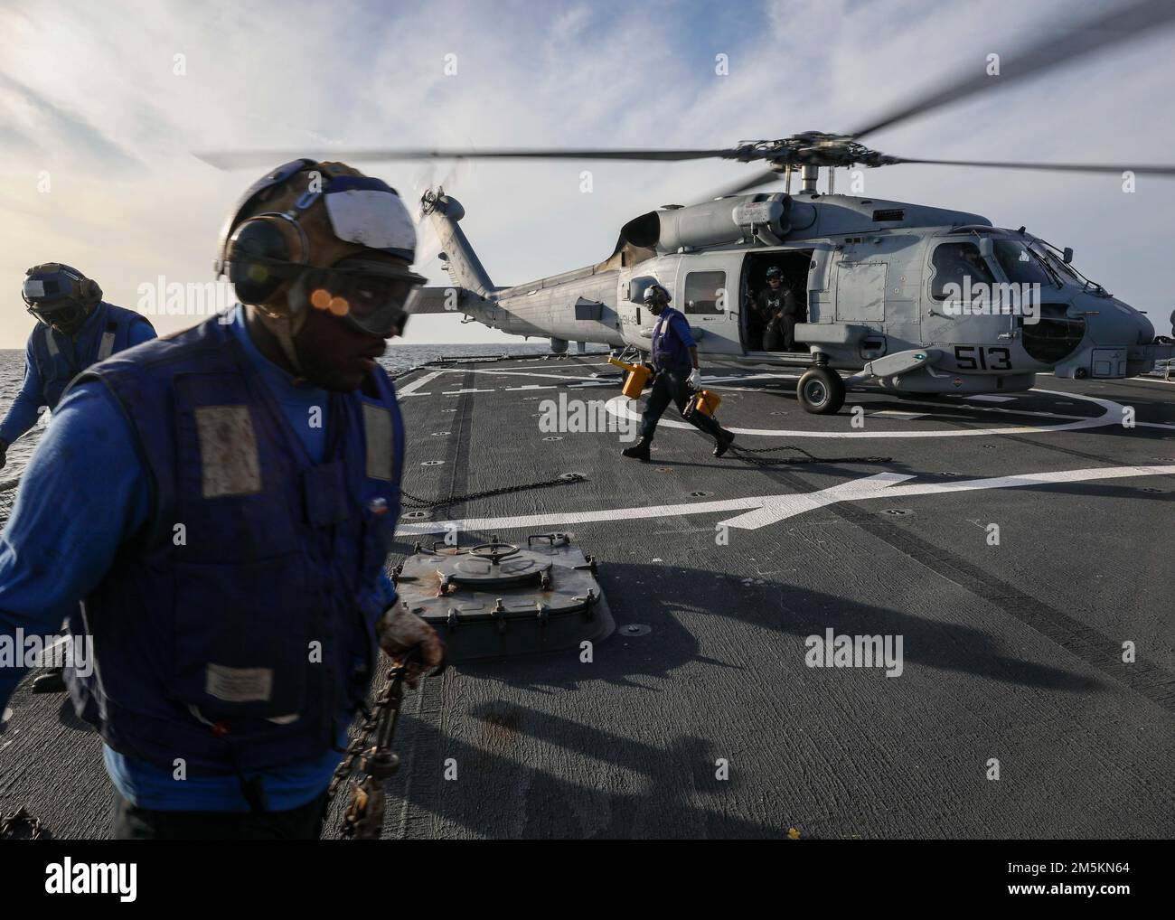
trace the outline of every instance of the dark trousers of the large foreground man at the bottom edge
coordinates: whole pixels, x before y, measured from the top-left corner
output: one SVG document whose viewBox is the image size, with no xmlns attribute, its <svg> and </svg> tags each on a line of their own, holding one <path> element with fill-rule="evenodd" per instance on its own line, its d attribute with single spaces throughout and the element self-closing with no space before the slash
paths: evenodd
<svg viewBox="0 0 1175 920">
<path fill-rule="evenodd" d="M 327 793 L 284 812 L 160 812 L 114 793 L 115 840 L 317 840 Z"/>
</svg>

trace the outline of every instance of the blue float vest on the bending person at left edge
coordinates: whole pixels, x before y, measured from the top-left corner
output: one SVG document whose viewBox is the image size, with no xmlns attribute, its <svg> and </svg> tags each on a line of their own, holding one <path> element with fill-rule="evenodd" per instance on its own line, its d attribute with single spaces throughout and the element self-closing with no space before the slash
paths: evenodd
<svg viewBox="0 0 1175 920">
<path fill-rule="evenodd" d="M 130 347 L 130 327 L 136 322 L 148 320 L 134 310 L 103 302 L 86 317 L 76 341 L 38 323 L 29 336 L 29 344 L 41 377 L 41 402 L 49 409 L 56 409 L 69 381 L 90 364 L 126 351 Z"/>
</svg>

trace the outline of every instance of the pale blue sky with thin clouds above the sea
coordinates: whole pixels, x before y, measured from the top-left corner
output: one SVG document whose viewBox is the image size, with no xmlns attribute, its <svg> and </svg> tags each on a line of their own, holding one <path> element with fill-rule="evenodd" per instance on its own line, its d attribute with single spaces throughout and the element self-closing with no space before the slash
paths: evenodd
<svg viewBox="0 0 1175 920">
<path fill-rule="evenodd" d="M 69 263 L 101 284 L 105 300 L 130 308 L 160 305 L 160 278 L 213 278 L 221 224 L 264 168 L 219 170 L 194 152 L 330 159 L 374 147 L 709 148 L 852 130 L 948 75 L 981 70 L 988 54 L 1009 55 L 1106 6 L 0 0 L 0 291 L 8 291 L 0 348 L 22 348 L 33 327 L 20 284 L 39 262 Z M 993 79 L 989 92 L 868 143 L 912 157 L 1175 160 L 1173 35 L 1007 89 Z M 728 73 L 716 73 L 717 55 L 726 55 Z M 465 207 L 462 226 L 490 277 L 504 286 L 597 262 L 631 217 L 696 201 L 760 167 L 361 168 L 405 199 L 443 181 Z M 841 170 L 838 190 L 845 184 Z M 865 170 L 864 193 L 1025 224 L 1073 247 L 1075 266 L 1166 331 L 1175 305 L 1175 180 L 1140 176 L 1127 194 L 1115 175 L 895 166 Z M 417 268 L 446 283 L 434 256 Z M 161 333 L 195 321 L 152 318 Z M 405 341 L 522 340 L 421 316 Z"/>
</svg>

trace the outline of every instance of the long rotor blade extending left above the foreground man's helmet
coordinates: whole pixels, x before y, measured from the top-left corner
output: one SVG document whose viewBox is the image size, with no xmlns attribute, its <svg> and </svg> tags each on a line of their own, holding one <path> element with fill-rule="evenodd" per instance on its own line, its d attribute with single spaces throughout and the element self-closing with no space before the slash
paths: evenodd
<svg viewBox="0 0 1175 920">
<path fill-rule="evenodd" d="M 289 150 L 244 150 L 210 152 L 194 154 L 209 166 L 217 169 L 244 169 L 247 167 L 267 167 L 274 163 L 289 162 L 304 154 Z M 329 150 L 324 156 L 347 162 L 372 162 L 391 160 L 709 160 L 711 157 L 733 157 L 734 150 L 607 150 L 586 148 L 578 150 L 564 149 L 505 149 L 505 150 Z"/>
</svg>

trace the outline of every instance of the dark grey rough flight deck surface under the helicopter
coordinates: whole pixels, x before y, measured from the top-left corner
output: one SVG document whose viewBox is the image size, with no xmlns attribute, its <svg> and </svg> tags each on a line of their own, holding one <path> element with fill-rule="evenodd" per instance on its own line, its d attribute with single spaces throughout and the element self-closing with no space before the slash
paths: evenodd
<svg viewBox="0 0 1175 920">
<path fill-rule="evenodd" d="M 397 550 L 445 522 L 462 543 L 570 532 L 620 629 L 591 663 L 578 649 L 481 663 L 409 693 L 385 837 L 1175 832 L 1175 387 L 1042 376 L 1029 394 L 934 403 L 860 390 L 815 417 L 794 375 L 711 365 L 740 445 L 892 461 L 754 466 L 663 424 L 638 464 L 616 432 L 539 428 L 546 399 L 618 395 L 602 362 L 398 382 L 408 491 L 589 478 L 405 518 Z M 808 667 L 805 639 L 827 629 L 900 636 L 900 677 Z M 60 697 L 26 685 L 11 705 L 0 810 L 106 835 L 95 737 Z"/>
</svg>

